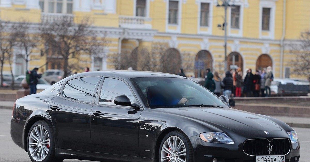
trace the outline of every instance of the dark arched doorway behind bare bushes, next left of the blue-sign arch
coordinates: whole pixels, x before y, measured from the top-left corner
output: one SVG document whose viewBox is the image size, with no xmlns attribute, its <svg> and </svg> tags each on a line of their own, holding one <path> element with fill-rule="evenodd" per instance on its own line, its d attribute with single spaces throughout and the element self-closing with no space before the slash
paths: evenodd
<svg viewBox="0 0 310 162">
<path fill-rule="evenodd" d="M 169 48 L 162 57 L 162 72 L 177 74 L 182 66 L 180 52 L 175 48 Z"/>
</svg>

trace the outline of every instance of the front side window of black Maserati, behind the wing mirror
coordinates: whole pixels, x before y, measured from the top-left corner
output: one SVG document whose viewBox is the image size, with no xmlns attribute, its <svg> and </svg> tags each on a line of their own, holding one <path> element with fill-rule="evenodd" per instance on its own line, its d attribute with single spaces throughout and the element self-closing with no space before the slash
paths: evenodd
<svg viewBox="0 0 310 162">
<path fill-rule="evenodd" d="M 114 98 L 120 95 L 126 95 L 131 103 L 134 103 L 135 97 L 123 81 L 105 78 L 100 92 L 99 104 L 115 105 Z"/>
</svg>

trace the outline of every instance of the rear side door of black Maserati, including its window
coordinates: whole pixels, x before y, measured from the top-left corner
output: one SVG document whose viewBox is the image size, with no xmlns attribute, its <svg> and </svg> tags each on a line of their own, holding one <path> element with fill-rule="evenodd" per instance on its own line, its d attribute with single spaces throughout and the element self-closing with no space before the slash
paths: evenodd
<svg viewBox="0 0 310 162">
<path fill-rule="evenodd" d="M 90 113 L 100 79 L 90 76 L 69 80 L 61 94 L 51 100 L 48 112 L 59 148 L 90 150 Z"/>
</svg>

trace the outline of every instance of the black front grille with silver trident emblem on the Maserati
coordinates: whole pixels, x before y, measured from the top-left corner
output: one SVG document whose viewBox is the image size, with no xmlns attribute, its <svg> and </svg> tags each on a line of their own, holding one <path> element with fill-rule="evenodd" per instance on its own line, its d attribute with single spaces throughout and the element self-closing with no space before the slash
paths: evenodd
<svg viewBox="0 0 310 162">
<path fill-rule="evenodd" d="M 244 142 L 243 151 L 251 156 L 286 155 L 290 152 L 290 140 L 275 138 L 269 142 L 268 139 L 249 139 Z"/>
</svg>

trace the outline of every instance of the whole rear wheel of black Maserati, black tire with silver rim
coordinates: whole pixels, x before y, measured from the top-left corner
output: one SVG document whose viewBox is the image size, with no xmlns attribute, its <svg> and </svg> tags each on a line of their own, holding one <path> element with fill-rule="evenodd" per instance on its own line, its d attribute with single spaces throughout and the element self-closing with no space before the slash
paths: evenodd
<svg viewBox="0 0 310 162">
<path fill-rule="evenodd" d="M 27 150 L 33 162 L 62 162 L 55 157 L 55 141 L 51 126 L 44 120 L 35 122 L 27 136 Z"/>
</svg>

